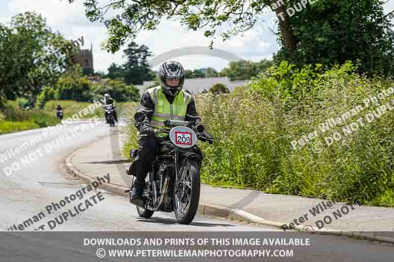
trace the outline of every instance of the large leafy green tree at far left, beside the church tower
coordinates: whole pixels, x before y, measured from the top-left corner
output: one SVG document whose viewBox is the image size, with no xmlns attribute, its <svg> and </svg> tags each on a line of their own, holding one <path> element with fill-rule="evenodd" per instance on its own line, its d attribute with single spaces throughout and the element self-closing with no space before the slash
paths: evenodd
<svg viewBox="0 0 394 262">
<path fill-rule="evenodd" d="M 35 97 L 74 67 L 69 55 L 75 51 L 41 15 L 25 12 L 14 16 L 10 28 L 0 25 L 0 96 L 3 100 Z"/>
</svg>

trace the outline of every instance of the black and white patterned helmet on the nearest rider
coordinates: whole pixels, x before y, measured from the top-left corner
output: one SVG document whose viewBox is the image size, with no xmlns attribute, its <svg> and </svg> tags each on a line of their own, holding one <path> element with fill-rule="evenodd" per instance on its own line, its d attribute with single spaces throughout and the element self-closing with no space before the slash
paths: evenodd
<svg viewBox="0 0 394 262">
<path fill-rule="evenodd" d="M 175 60 L 168 60 L 162 63 L 159 67 L 158 78 L 160 86 L 163 92 L 171 97 L 175 97 L 176 94 L 182 89 L 185 83 L 185 70 L 180 62 Z M 165 84 L 165 79 L 179 79 L 179 85 L 177 87 L 169 87 Z"/>
</svg>

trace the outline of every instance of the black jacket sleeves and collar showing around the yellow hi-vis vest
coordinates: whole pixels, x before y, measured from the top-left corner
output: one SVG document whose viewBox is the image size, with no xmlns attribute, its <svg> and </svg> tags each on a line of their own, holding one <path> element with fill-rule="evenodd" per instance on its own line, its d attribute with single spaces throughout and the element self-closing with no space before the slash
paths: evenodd
<svg viewBox="0 0 394 262">
<path fill-rule="evenodd" d="M 165 96 L 165 97 L 167 98 L 168 102 L 170 103 L 173 102 L 172 97 L 169 96 Z M 134 120 L 134 126 L 138 129 L 138 131 L 140 131 L 140 128 L 143 124 L 150 123 L 154 111 L 155 111 L 155 104 L 151 96 L 149 95 L 149 92 L 145 90 L 141 95 L 141 103 L 137 109 L 137 112 L 144 113 L 145 120 L 143 120 L 142 122 L 137 122 Z M 186 109 L 185 121 L 195 121 L 196 125 L 201 123 L 201 117 L 198 116 L 197 114 L 196 103 L 193 96 Z"/>
</svg>

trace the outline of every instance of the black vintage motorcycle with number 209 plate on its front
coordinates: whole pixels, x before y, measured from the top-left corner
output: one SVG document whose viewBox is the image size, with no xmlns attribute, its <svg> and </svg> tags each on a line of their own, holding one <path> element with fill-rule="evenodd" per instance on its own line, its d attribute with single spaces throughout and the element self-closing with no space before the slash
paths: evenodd
<svg viewBox="0 0 394 262">
<path fill-rule="evenodd" d="M 144 117 L 142 113 L 134 116 L 136 121 Z M 174 212 L 180 224 L 189 225 L 193 221 L 200 196 L 201 159 L 196 152 L 197 139 L 213 143 L 212 135 L 203 132 L 202 126 L 193 128 L 194 122 L 165 120 L 163 128 L 155 129 L 156 136 L 166 133 L 169 140 L 159 139 L 160 151 L 145 179 L 145 205 L 137 206 L 139 216 L 149 218 L 155 211 L 164 211 Z M 131 149 L 130 156 L 135 157 L 137 151 Z M 131 169 L 132 164 L 128 175 L 133 174 Z"/>
</svg>

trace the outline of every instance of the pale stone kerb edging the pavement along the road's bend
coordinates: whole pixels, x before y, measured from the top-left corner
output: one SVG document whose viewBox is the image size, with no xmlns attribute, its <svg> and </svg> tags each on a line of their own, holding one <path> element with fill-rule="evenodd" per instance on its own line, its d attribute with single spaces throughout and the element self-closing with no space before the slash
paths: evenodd
<svg viewBox="0 0 394 262">
<path fill-rule="evenodd" d="M 92 143 L 94 143 L 94 142 L 92 142 Z M 79 151 L 82 149 L 84 149 L 84 148 L 79 148 L 66 157 L 66 161 L 65 161 L 66 162 L 66 171 L 68 174 L 73 175 L 74 177 L 76 177 L 78 179 L 81 179 L 87 183 L 92 183 L 95 180 L 95 178 L 83 174 L 71 162 L 72 157 L 74 155 L 76 155 L 77 153 L 79 153 Z M 124 186 L 115 185 L 115 184 L 102 184 L 102 185 L 99 185 L 98 188 L 104 189 L 108 192 L 111 192 L 113 194 L 116 194 L 116 195 L 119 195 L 119 196 L 122 196 L 125 198 L 129 198 L 129 193 L 125 193 L 125 190 L 129 190 L 130 188 L 127 188 Z M 369 239 L 369 240 L 376 240 L 376 241 L 382 241 L 382 242 L 388 242 L 388 243 L 394 244 L 394 237 L 377 236 L 377 235 L 372 235 L 372 234 L 368 234 L 368 233 L 318 229 L 318 228 L 312 227 L 312 226 L 303 226 L 303 227 L 302 226 L 294 226 L 290 229 L 290 228 L 284 227 L 284 225 L 287 225 L 286 223 L 266 220 L 262 217 L 253 215 L 253 214 L 246 212 L 245 210 L 242 210 L 242 209 L 229 208 L 229 207 L 217 205 L 217 204 L 205 204 L 205 203 L 198 204 L 197 213 L 199 213 L 201 215 L 210 215 L 210 216 L 227 218 L 230 220 L 247 221 L 247 222 L 262 224 L 265 226 L 280 228 L 283 230 L 288 229 L 288 230 L 303 231 L 303 232 L 307 232 L 307 233 L 322 233 L 322 234 L 333 234 L 333 235 L 338 235 L 338 236 L 342 235 L 342 236 L 349 236 L 349 237 L 361 237 L 361 238 L 365 238 L 365 239 Z"/>
</svg>

